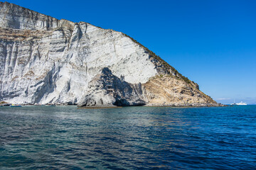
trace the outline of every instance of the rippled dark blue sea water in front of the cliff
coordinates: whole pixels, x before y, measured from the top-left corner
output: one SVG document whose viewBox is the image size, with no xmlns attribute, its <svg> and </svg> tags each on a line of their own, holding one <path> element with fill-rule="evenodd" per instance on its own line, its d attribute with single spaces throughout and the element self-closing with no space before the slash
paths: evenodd
<svg viewBox="0 0 256 170">
<path fill-rule="evenodd" d="M 256 169 L 256 106 L 1 107 L 0 169 Z"/>
</svg>

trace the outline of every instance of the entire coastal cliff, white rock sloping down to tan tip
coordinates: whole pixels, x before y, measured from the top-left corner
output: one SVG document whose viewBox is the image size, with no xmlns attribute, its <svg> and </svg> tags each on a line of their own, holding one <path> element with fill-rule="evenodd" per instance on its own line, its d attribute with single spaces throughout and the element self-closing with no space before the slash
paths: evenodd
<svg viewBox="0 0 256 170">
<path fill-rule="evenodd" d="M 0 90 L 0 100 L 11 103 L 215 104 L 123 33 L 7 2 L 0 2 Z"/>
</svg>

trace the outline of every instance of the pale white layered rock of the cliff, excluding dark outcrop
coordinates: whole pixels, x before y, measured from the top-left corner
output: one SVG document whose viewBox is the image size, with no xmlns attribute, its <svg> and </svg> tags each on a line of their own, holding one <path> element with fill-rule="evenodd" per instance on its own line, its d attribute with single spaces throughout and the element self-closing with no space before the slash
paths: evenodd
<svg viewBox="0 0 256 170">
<path fill-rule="evenodd" d="M 127 35 L 90 23 L 58 20 L 0 2 L 0 27 L 1 101 L 75 104 L 92 94 L 100 98 L 104 93 L 96 95 L 88 84 L 105 67 L 116 77 L 124 76 L 134 91 L 136 84 L 157 74 L 181 77 Z M 146 101 L 139 95 L 126 100 Z M 103 100 L 111 104 L 114 99 Z"/>
</svg>

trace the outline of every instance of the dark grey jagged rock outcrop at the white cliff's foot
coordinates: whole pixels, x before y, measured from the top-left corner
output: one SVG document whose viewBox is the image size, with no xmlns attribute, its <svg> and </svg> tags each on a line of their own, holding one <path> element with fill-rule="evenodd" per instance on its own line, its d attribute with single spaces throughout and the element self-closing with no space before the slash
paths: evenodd
<svg viewBox="0 0 256 170">
<path fill-rule="evenodd" d="M 90 81 L 79 106 L 143 106 L 146 102 L 142 98 L 142 84 L 129 84 L 105 67 Z"/>
</svg>

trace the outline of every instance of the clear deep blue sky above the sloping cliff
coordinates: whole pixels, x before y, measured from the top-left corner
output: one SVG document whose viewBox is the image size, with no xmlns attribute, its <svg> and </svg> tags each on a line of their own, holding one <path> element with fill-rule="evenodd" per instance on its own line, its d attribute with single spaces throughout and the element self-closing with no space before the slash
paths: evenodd
<svg viewBox="0 0 256 170">
<path fill-rule="evenodd" d="M 220 103 L 256 104 L 256 1 L 9 0 L 131 36 Z"/>
</svg>

